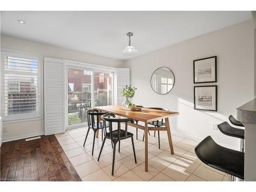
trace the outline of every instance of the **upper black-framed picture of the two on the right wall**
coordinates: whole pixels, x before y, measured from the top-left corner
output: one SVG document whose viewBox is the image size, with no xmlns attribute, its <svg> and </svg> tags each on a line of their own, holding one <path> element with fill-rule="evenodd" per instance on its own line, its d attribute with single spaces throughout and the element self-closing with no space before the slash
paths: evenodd
<svg viewBox="0 0 256 192">
<path fill-rule="evenodd" d="M 194 83 L 217 82 L 217 56 L 193 61 Z"/>
</svg>

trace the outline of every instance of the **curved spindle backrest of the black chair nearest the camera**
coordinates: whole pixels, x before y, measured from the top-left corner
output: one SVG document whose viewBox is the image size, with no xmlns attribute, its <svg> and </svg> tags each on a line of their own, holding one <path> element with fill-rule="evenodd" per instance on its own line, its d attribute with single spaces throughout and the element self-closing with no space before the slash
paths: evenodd
<svg viewBox="0 0 256 192">
<path fill-rule="evenodd" d="M 134 123 L 134 120 L 131 118 L 116 118 L 115 114 L 113 113 L 108 113 L 108 114 L 104 114 L 102 115 L 102 119 L 103 119 L 103 126 L 104 126 L 104 132 L 105 134 L 107 134 L 108 132 L 106 131 L 106 121 L 109 122 L 109 131 L 110 131 L 110 138 L 111 140 L 113 139 L 113 123 L 117 123 L 117 133 L 118 133 L 118 138 L 117 140 L 120 140 L 120 129 L 121 129 L 121 123 L 124 122 L 125 123 L 125 139 L 127 138 L 127 127 L 128 127 L 128 122 Z"/>
</svg>

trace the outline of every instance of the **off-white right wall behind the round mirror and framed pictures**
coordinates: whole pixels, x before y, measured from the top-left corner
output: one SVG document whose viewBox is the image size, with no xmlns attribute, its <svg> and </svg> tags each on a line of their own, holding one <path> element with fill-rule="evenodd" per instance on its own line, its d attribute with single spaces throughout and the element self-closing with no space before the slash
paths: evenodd
<svg viewBox="0 0 256 192">
<path fill-rule="evenodd" d="M 238 148 L 239 139 L 212 129 L 236 108 L 254 96 L 254 48 L 252 20 L 183 41 L 124 62 L 131 68 L 131 84 L 138 88 L 133 102 L 159 106 L 180 112 L 170 118 L 172 133 L 195 139 L 210 135 L 216 142 Z M 217 83 L 193 83 L 193 60 L 217 55 Z M 166 95 L 158 95 L 150 85 L 155 69 L 168 67 L 175 74 L 175 86 Z M 218 85 L 218 112 L 194 110 L 194 86 Z"/>
</svg>

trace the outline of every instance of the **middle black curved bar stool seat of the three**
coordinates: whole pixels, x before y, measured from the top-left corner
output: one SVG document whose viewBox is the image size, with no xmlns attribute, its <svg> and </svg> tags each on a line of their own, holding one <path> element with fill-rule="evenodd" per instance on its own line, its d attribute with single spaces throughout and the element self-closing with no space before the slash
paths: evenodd
<svg viewBox="0 0 256 192">
<path fill-rule="evenodd" d="M 244 130 L 232 127 L 228 122 L 218 124 L 218 128 L 224 135 L 244 139 Z"/>
</svg>

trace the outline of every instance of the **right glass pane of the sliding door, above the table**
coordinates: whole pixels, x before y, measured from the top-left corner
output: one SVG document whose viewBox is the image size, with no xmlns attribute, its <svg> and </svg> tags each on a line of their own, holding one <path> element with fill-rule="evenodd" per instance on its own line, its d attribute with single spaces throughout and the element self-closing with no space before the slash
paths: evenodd
<svg viewBox="0 0 256 192">
<path fill-rule="evenodd" d="M 113 74 L 94 73 L 94 106 L 112 105 Z"/>
</svg>

